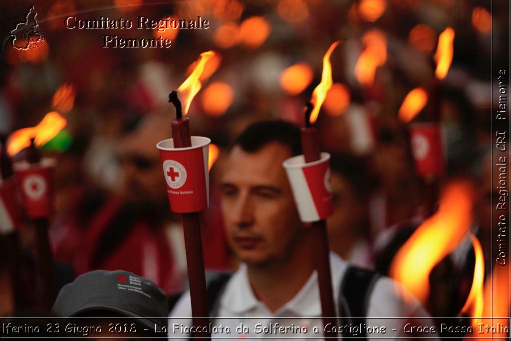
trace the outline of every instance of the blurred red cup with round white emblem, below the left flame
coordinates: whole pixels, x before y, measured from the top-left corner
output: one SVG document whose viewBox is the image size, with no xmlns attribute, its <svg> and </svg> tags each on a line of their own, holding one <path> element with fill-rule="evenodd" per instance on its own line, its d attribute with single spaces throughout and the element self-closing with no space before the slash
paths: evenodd
<svg viewBox="0 0 511 341">
<path fill-rule="evenodd" d="M 30 218 L 46 218 L 53 213 L 53 172 L 57 161 L 43 158 L 37 164 L 15 162 L 21 198 Z"/>
</svg>

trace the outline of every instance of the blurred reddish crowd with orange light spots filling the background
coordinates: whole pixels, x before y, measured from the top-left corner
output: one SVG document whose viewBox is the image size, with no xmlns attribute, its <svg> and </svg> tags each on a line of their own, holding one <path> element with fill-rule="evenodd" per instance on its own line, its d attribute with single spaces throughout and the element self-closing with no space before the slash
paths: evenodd
<svg viewBox="0 0 511 341">
<path fill-rule="evenodd" d="M 14 26 L 28 5 L 7 6 L 6 28 Z M 495 44 L 492 55 L 492 34 L 495 42 L 505 33 L 508 13 L 498 9 L 501 5 L 494 2 L 491 14 L 489 2 L 479 0 L 36 4 L 47 40 L 28 52 L 4 44 L 0 132 L 36 127 L 51 112 L 65 120 L 51 139 L 36 138 L 43 155 L 57 159 L 49 229 L 58 264 L 57 289 L 98 269 L 143 276 L 168 295 L 187 286 L 180 216 L 169 209 L 155 146 L 171 137 L 175 111 L 169 93 L 208 50 L 217 54 L 206 64 L 202 88 L 189 110 L 192 135 L 210 137 L 214 144 L 210 207 L 201 213 L 204 264 L 211 272 L 236 269 L 219 206 L 219 178 L 229 143 L 247 125 L 263 119 L 303 126 L 304 105 L 321 79 L 323 55 L 336 40 L 334 84 L 316 124 L 323 150 L 332 154 L 331 249 L 388 275 L 403 243 L 435 211 L 438 193 L 462 179 L 472 191 L 469 230 L 481 243 L 489 278 L 490 200 L 497 191 L 491 185 L 496 172 L 490 155 L 495 109 L 491 63 L 492 58 L 493 65 L 505 63 L 499 60 L 504 46 Z M 67 15 L 122 16 L 133 22 L 141 15 L 157 20 L 200 15 L 211 25 L 208 30 L 163 33 L 68 30 L 63 25 Z M 455 32 L 452 64 L 444 79 L 435 80 L 434 55 L 447 28 Z M 103 48 L 102 35 L 113 33 L 131 38 L 161 35 L 172 40 L 172 47 Z M 430 91 L 434 82 L 438 98 Z M 417 88 L 426 89 L 424 103 L 416 103 L 415 117 L 403 118 L 402 104 Z M 434 110 L 446 166 L 431 179 L 415 170 L 408 128 L 410 121 L 431 121 Z M 8 152 L 13 136 L 7 140 Z M 18 160 L 24 155 L 20 149 L 11 156 Z M 20 226 L 19 234 L 28 269 L 24 276 L 30 277 L 37 271 L 30 223 Z M 458 315 L 471 289 L 476 258 L 471 239 L 453 243 L 455 251 L 431 271 L 431 294 L 424 303 L 433 316 Z M 38 300 L 37 285 L 32 285 L 27 292 L 35 294 L 27 294 L 29 303 Z M 12 300 L 0 301 L 2 314 L 12 309 Z"/>
</svg>

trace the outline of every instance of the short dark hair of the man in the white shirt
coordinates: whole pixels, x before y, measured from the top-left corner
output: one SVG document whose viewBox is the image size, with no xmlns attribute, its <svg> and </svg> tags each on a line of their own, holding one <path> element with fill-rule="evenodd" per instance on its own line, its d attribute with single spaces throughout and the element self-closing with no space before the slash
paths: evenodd
<svg viewBox="0 0 511 341">
<path fill-rule="evenodd" d="M 292 156 L 301 154 L 300 128 L 283 120 L 260 121 L 248 126 L 231 147 L 239 145 L 245 152 L 254 153 L 271 142 L 286 145 Z"/>
</svg>

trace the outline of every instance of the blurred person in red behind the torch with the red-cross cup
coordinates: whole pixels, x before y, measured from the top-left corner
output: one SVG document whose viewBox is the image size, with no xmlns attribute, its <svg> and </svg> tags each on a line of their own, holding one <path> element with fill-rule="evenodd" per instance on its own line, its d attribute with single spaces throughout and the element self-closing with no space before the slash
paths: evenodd
<svg viewBox="0 0 511 341">
<path fill-rule="evenodd" d="M 77 275 L 126 269 L 170 292 L 184 280 L 182 231 L 169 209 L 156 143 L 171 134 L 168 117 L 147 114 L 115 148 L 120 173 L 113 189 L 88 188 L 59 222 L 57 258 Z M 85 163 L 85 166 L 87 163 Z"/>
</svg>

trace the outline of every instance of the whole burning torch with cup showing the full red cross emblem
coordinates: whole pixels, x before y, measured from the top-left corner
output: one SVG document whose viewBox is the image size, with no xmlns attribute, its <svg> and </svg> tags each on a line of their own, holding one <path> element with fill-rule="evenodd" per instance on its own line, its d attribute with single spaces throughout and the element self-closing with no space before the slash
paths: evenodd
<svg viewBox="0 0 511 341">
<path fill-rule="evenodd" d="M 213 51 L 202 53 L 192 74 L 177 89 L 185 96 L 184 108 L 181 107 L 176 91 L 169 95 L 169 102 L 176 108 L 176 119 L 172 120 L 172 138 L 156 145 L 167 183 L 170 209 L 182 213 L 192 317 L 196 330 L 207 330 L 210 323 L 199 212 L 208 206 L 208 145 L 211 140 L 202 136 L 190 136 L 190 119 L 183 117 L 183 111 L 184 115 L 188 113 L 192 99 L 201 87 L 199 78 L 204 65 L 214 55 Z M 207 332 L 195 333 L 195 336 L 211 337 Z"/>
</svg>

